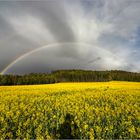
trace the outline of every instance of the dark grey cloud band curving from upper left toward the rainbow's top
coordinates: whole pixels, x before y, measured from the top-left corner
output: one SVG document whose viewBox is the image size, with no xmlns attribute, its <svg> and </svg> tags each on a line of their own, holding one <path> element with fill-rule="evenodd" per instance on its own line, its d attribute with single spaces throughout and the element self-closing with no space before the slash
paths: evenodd
<svg viewBox="0 0 140 140">
<path fill-rule="evenodd" d="M 75 40 L 75 35 L 68 24 L 68 16 L 64 6 L 65 1 L 9 2 L 5 4 L 8 10 L 5 12 L 17 18 L 24 15 L 33 16 L 47 26 L 48 30 L 55 36 L 56 41 L 70 42 Z"/>
</svg>

